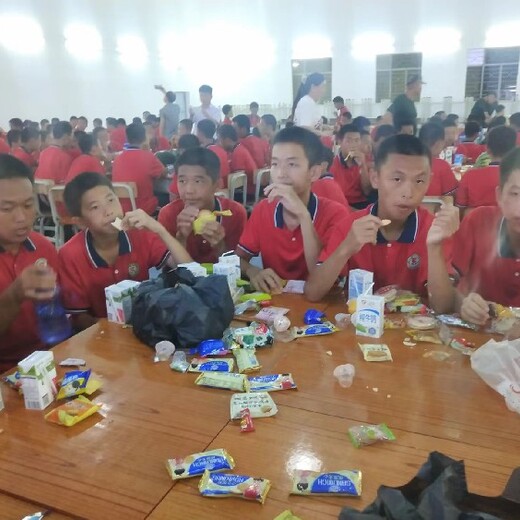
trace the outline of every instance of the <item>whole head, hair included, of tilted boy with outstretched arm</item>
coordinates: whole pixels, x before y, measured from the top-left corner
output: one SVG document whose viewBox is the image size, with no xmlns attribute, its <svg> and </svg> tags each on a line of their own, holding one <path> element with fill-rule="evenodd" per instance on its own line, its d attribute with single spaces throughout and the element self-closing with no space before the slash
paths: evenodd
<svg viewBox="0 0 520 520">
<path fill-rule="evenodd" d="M 123 217 L 123 209 L 112 183 L 105 175 L 80 173 L 65 185 L 63 200 L 79 227 L 88 228 L 94 235 L 117 235 L 112 222 L 117 217 Z"/>
</svg>

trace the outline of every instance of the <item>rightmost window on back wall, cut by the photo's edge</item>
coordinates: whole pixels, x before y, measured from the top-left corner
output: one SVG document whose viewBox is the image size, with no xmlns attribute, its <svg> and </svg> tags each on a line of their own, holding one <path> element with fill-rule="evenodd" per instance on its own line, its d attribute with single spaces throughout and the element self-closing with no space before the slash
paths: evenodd
<svg viewBox="0 0 520 520">
<path fill-rule="evenodd" d="M 520 47 L 471 49 L 466 69 L 466 97 L 496 92 L 498 99 L 516 99 Z"/>
</svg>

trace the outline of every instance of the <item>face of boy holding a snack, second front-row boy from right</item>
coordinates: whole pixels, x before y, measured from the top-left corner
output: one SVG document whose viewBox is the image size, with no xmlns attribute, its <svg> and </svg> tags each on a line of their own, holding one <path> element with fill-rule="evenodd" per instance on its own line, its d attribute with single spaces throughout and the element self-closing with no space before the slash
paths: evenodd
<svg viewBox="0 0 520 520">
<path fill-rule="evenodd" d="M 404 222 L 421 204 L 430 178 L 427 157 L 391 153 L 378 172 L 370 172 L 372 186 L 379 190 L 384 218 Z"/>
</svg>

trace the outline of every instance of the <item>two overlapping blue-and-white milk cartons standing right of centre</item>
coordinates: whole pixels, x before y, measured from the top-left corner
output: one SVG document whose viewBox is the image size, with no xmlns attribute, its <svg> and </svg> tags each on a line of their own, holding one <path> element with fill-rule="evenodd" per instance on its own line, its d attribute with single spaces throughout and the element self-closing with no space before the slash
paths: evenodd
<svg viewBox="0 0 520 520">
<path fill-rule="evenodd" d="M 357 300 L 356 335 L 380 338 L 385 321 L 385 299 L 373 296 L 374 273 L 363 269 L 353 269 L 348 277 L 348 299 Z"/>
</svg>

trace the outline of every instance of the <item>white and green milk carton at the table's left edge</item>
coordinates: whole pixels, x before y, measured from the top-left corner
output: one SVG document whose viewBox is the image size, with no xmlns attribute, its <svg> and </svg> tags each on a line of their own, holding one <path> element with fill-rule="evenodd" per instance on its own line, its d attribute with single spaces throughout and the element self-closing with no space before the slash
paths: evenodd
<svg viewBox="0 0 520 520">
<path fill-rule="evenodd" d="M 56 394 L 56 366 L 54 354 L 36 350 L 18 363 L 25 408 L 43 410 L 54 400 Z"/>
</svg>

